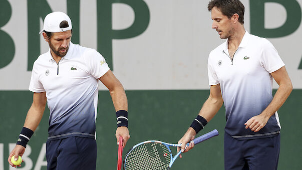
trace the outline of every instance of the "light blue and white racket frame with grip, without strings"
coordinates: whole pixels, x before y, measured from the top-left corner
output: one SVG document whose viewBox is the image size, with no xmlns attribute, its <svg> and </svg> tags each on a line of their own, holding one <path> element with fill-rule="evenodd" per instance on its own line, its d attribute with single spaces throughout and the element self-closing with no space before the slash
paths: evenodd
<svg viewBox="0 0 302 170">
<path fill-rule="evenodd" d="M 193 139 L 191 142 L 193 142 L 194 144 L 198 144 L 204 140 L 207 140 L 211 137 L 214 137 L 214 136 L 217 136 L 219 133 L 217 131 L 217 129 L 214 129 L 206 134 L 203 134 L 195 139 Z M 170 169 L 170 167 L 172 166 L 172 164 L 174 163 L 174 161 L 176 160 L 176 158 L 182 153 L 181 151 L 177 152 L 177 154 L 173 157 L 172 155 L 172 151 L 170 149 L 169 146 L 173 146 L 173 147 L 181 147 L 181 144 L 173 144 L 173 143 L 166 143 L 166 142 L 163 142 L 163 141 L 159 141 L 159 140 L 147 140 L 147 141 L 143 141 L 143 142 L 140 142 L 136 145 L 134 145 L 127 153 L 126 153 L 126 156 L 125 156 L 125 159 L 123 161 L 123 168 L 126 169 L 125 167 L 125 161 L 127 159 L 127 155 L 129 152 L 131 152 L 134 148 L 136 148 L 137 146 L 141 145 L 141 144 L 145 144 L 145 143 L 151 143 L 151 142 L 155 142 L 155 143 L 160 143 L 160 144 L 163 144 L 165 145 L 169 152 L 170 152 L 170 164 L 169 166 L 167 167 L 167 170 Z M 186 144 L 186 147 L 189 146 L 189 143 Z"/>
</svg>

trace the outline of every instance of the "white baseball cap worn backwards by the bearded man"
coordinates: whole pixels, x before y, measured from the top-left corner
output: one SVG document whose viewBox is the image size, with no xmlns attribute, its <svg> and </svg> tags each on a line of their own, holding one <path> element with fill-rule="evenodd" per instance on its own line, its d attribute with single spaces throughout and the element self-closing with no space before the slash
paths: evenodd
<svg viewBox="0 0 302 170">
<path fill-rule="evenodd" d="M 60 28 L 60 24 L 62 21 L 67 21 L 68 27 Z M 72 29 L 71 20 L 68 17 L 68 15 L 66 15 L 63 12 L 53 12 L 45 17 L 43 30 L 41 30 L 39 34 L 41 34 L 43 31 L 47 31 L 50 33 L 59 33 L 71 29 Z"/>
</svg>

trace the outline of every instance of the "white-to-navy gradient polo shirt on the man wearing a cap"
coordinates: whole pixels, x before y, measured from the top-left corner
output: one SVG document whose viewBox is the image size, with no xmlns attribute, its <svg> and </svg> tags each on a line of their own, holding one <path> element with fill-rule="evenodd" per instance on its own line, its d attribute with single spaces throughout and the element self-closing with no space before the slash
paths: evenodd
<svg viewBox="0 0 302 170">
<path fill-rule="evenodd" d="M 29 90 L 46 92 L 49 138 L 95 138 L 98 78 L 109 71 L 103 56 L 94 49 L 70 43 L 59 64 L 50 50 L 35 61 Z"/>
</svg>

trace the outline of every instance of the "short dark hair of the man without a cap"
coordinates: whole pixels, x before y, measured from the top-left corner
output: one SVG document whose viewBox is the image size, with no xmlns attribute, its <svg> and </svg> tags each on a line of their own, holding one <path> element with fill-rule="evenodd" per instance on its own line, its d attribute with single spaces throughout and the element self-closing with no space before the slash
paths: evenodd
<svg viewBox="0 0 302 170">
<path fill-rule="evenodd" d="M 219 11 L 230 19 L 234 14 L 239 15 L 239 23 L 244 24 L 244 6 L 239 0 L 211 0 L 208 10 L 216 7 Z"/>
</svg>

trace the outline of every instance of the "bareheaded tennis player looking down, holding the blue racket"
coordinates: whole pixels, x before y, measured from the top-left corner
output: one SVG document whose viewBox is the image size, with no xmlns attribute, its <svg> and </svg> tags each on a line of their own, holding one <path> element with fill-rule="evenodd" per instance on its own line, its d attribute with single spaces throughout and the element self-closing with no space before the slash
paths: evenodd
<svg viewBox="0 0 302 170">
<path fill-rule="evenodd" d="M 292 90 L 284 63 L 269 41 L 245 31 L 239 0 L 212 0 L 208 10 L 212 28 L 227 40 L 209 55 L 209 98 L 178 143 L 184 150 L 224 102 L 225 169 L 277 169 L 281 128 L 277 110 Z M 279 85 L 273 97 L 272 78 Z"/>
</svg>

